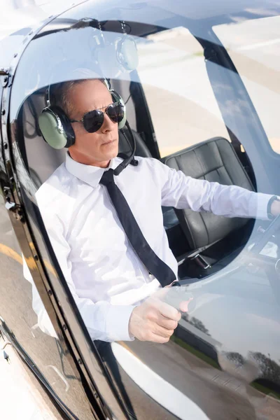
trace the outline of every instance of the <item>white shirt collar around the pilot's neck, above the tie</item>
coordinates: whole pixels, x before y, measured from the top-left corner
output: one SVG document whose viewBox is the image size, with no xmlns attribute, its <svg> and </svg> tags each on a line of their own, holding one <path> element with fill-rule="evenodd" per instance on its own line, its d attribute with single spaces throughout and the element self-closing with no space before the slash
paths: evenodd
<svg viewBox="0 0 280 420">
<path fill-rule="evenodd" d="M 65 167 L 70 174 L 76 176 L 80 181 L 83 181 L 90 186 L 97 187 L 100 179 L 105 171 L 108 169 L 115 169 L 122 160 L 120 158 L 113 158 L 110 161 L 108 168 L 99 168 L 92 165 L 84 165 L 83 163 L 73 160 L 69 153 L 66 153 Z"/>
</svg>

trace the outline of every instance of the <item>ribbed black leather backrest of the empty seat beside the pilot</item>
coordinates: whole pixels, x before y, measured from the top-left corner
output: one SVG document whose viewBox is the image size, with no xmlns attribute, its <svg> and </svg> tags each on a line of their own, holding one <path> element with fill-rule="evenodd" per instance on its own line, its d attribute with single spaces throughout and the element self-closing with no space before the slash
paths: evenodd
<svg viewBox="0 0 280 420">
<path fill-rule="evenodd" d="M 214 137 L 195 144 L 163 158 L 162 161 L 196 179 L 207 179 L 253 190 L 253 185 L 232 144 L 223 137 Z M 194 250 L 223 239 L 248 222 L 248 219 L 244 218 L 225 218 L 206 211 L 197 213 L 189 209 L 176 209 L 176 214 L 190 248 Z"/>
</svg>

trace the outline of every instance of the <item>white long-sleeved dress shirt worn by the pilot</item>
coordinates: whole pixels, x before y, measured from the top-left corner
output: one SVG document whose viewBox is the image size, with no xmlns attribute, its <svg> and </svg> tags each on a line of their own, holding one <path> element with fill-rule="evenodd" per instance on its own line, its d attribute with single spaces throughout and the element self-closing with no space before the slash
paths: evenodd
<svg viewBox="0 0 280 420">
<path fill-rule="evenodd" d="M 114 177 L 116 185 L 148 244 L 176 276 L 162 206 L 267 219 L 271 195 L 193 179 L 152 158 L 137 160 L 137 167 L 129 165 Z M 120 162 L 120 158 L 111 160 L 109 168 Z M 106 187 L 99 184 L 104 170 L 80 164 L 67 154 L 66 162 L 39 188 L 36 200 L 90 336 L 113 342 L 132 339 L 128 332 L 132 310 L 161 286 L 134 252 Z M 44 309 L 36 304 L 35 310 L 40 325 Z"/>
</svg>

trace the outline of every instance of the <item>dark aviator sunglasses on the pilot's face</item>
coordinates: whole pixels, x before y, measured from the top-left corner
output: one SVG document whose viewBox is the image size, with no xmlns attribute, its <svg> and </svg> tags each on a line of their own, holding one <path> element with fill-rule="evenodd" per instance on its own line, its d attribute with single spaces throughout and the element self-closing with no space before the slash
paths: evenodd
<svg viewBox="0 0 280 420">
<path fill-rule="evenodd" d="M 105 108 L 105 107 L 104 107 Z M 85 130 L 89 133 L 97 132 L 104 123 L 104 113 L 109 116 L 113 123 L 120 123 L 125 116 L 125 106 L 120 102 L 114 102 L 106 106 L 105 111 L 100 109 L 94 109 L 85 113 L 81 120 L 70 120 L 70 123 L 83 123 Z"/>
</svg>

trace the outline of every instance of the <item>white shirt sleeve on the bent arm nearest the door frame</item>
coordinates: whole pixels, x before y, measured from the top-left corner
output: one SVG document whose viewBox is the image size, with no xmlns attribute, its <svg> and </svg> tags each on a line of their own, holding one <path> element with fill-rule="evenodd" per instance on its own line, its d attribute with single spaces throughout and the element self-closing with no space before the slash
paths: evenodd
<svg viewBox="0 0 280 420">
<path fill-rule="evenodd" d="M 57 216 L 45 214 L 42 214 L 42 216 L 57 261 L 59 262 L 66 283 L 73 295 L 85 326 L 90 333 L 90 337 L 93 340 L 99 339 L 106 342 L 120 340 L 132 341 L 133 337 L 130 337 L 128 325 L 134 306 L 112 305 L 106 301 L 94 303 L 88 298 L 79 297 L 71 278 L 71 260 L 69 258 L 71 248 L 63 235 L 63 223 L 62 221 L 59 221 Z M 28 274 L 27 269 L 28 267 L 25 265 L 25 278 L 30 281 L 31 274 L 29 270 Z M 33 284 L 33 293 L 35 293 L 33 296 L 33 309 L 38 316 L 38 325 L 43 332 L 47 332 L 54 336 L 54 329 L 50 323 L 50 318 L 45 311 L 45 307 L 34 286 L 34 282 L 31 281 L 31 283 Z"/>
</svg>

